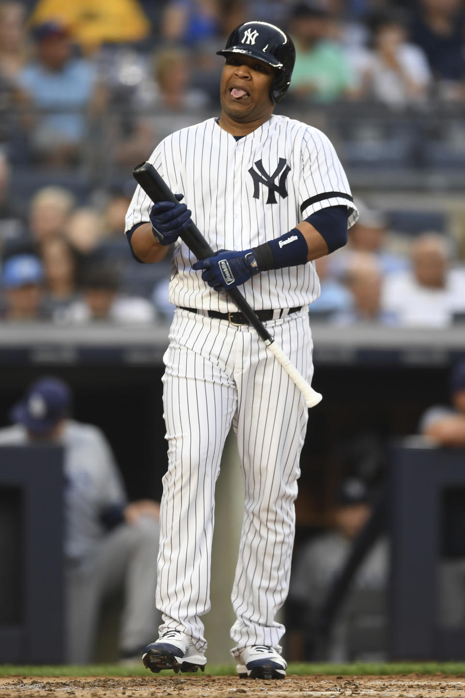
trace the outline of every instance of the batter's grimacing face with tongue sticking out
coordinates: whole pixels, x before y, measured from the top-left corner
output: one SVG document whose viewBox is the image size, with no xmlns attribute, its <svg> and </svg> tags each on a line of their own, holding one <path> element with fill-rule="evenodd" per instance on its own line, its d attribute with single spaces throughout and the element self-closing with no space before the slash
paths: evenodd
<svg viewBox="0 0 465 698">
<path fill-rule="evenodd" d="M 221 76 L 221 106 L 227 115 L 241 123 L 270 117 L 273 102 L 270 87 L 275 69 L 259 59 L 231 54 Z"/>
</svg>

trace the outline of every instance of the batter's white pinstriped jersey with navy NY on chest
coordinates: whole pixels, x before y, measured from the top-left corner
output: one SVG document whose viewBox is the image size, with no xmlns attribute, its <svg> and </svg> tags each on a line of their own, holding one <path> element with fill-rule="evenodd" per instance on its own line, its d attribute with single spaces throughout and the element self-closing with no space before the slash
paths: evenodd
<svg viewBox="0 0 465 698">
<path fill-rule="evenodd" d="M 184 195 L 192 220 L 214 251 L 244 250 L 284 235 L 315 211 L 349 209 L 358 218 L 333 145 L 317 128 L 273 115 L 239 140 L 217 119 L 188 126 L 162 140 L 148 160 L 174 193 Z M 125 230 L 149 221 L 152 202 L 137 186 Z M 195 255 L 178 239 L 171 262 L 169 300 L 177 306 L 236 310 L 226 293 L 202 281 Z M 273 269 L 240 286 L 255 310 L 312 303 L 320 286 L 312 262 Z"/>
</svg>

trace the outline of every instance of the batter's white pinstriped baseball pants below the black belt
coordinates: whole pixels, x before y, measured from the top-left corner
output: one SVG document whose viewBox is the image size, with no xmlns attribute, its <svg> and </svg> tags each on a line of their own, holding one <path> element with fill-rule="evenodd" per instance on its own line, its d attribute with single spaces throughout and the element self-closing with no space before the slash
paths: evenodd
<svg viewBox="0 0 465 698">
<path fill-rule="evenodd" d="M 267 323 L 307 380 L 312 339 L 306 307 Z M 163 403 L 169 466 L 160 510 L 160 634 L 181 630 L 206 649 L 215 482 L 231 423 L 245 480 L 245 513 L 231 595 L 238 647 L 279 647 L 275 614 L 286 600 L 294 544 L 303 396 L 257 332 L 176 309 L 165 353 Z"/>
</svg>

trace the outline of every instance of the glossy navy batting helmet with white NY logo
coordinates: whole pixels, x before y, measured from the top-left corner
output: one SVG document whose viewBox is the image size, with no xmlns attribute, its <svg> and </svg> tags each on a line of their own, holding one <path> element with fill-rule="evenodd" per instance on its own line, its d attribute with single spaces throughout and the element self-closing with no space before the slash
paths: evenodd
<svg viewBox="0 0 465 698">
<path fill-rule="evenodd" d="M 291 84 L 292 68 L 296 61 L 296 49 L 284 31 L 268 22 L 245 22 L 231 31 L 224 50 L 219 56 L 228 57 L 231 53 L 242 53 L 258 58 L 268 66 L 277 68 L 279 73 L 270 88 L 270 98 L 276 104 L 287 93 Z"/>
</svg>

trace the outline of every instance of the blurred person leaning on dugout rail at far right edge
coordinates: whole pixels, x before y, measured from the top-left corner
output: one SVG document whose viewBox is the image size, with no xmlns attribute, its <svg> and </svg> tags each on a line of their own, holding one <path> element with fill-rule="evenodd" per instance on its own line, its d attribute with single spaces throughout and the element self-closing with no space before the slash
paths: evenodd
<svg viewBox="0 0 465 698">
<path fill-rule="evenodd" d="M 436 445 L 465 447 L 465 361 L 459 362 L 450 376 L 451 407 L 430 407 L 420 419 L 419 430 Z"/>
</svg>

